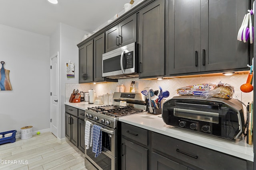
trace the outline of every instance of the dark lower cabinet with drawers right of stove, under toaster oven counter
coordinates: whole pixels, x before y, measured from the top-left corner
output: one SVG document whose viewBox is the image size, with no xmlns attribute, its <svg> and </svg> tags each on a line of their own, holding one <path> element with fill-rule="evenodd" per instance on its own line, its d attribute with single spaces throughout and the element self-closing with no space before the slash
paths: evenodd
<svg viewBox="0 0 256 170">
<path fill-rule="evenodd" d="M 253 162 L 121 124 L 122 170 L 251 170 Z"/>
</svg>

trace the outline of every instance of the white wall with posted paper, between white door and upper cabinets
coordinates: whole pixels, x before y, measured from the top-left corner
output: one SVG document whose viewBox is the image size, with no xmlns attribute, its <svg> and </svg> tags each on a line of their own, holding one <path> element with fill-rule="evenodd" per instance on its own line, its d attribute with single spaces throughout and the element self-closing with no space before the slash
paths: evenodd
<svg viewBox="0 0 256 170">
<path fill-rule="evenodd" d="M 58 96 L 58 135 L 59 139 L 65 138 L 65 84 L 66 83 L 78 83 L 78 43 L 82 41 L 82 38 L 86 32 L 64 23 L 56 28 L 54 33 L 50 36 L 50 56 L 59 52 L 59 96 Z M 66 74 L 66 62 L 73 62 L 75 65 L 75 77 L 67 78 Z"/>
</svg>

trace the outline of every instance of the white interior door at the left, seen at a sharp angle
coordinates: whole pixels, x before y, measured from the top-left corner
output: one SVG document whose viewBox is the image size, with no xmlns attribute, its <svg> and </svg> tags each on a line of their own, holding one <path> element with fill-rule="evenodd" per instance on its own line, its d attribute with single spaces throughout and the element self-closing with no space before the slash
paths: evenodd
<svg viewBox="0 0 256 170">
<path fill-rule="evenodd" d="M 58 137 L 58 53 L 51 57 L 51 71 L 50 71 L 50 83 L 51 83 L 51 132 Z"/>
</svg>

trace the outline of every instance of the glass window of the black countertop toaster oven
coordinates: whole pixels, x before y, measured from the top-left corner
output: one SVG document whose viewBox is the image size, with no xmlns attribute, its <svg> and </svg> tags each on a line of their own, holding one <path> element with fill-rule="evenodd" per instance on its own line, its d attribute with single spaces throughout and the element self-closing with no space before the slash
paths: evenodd
<svg viewBox="0 0 256 170">
<path fill-rule="evenodd" d="M 187 119 L 219 123 L 219 113 L 174 108 L 173 115 Z"/>
</svg>

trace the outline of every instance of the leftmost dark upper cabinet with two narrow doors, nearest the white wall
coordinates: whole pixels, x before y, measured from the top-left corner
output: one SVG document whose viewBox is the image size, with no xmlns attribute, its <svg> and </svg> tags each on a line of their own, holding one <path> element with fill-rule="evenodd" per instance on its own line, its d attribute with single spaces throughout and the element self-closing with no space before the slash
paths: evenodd
<svg viewBox="0 0 256 170">
<path fill-rule="evenodd" d="M 79 48 L 79 83 L 93 81 L 93 40 Z"/>
</svg>

